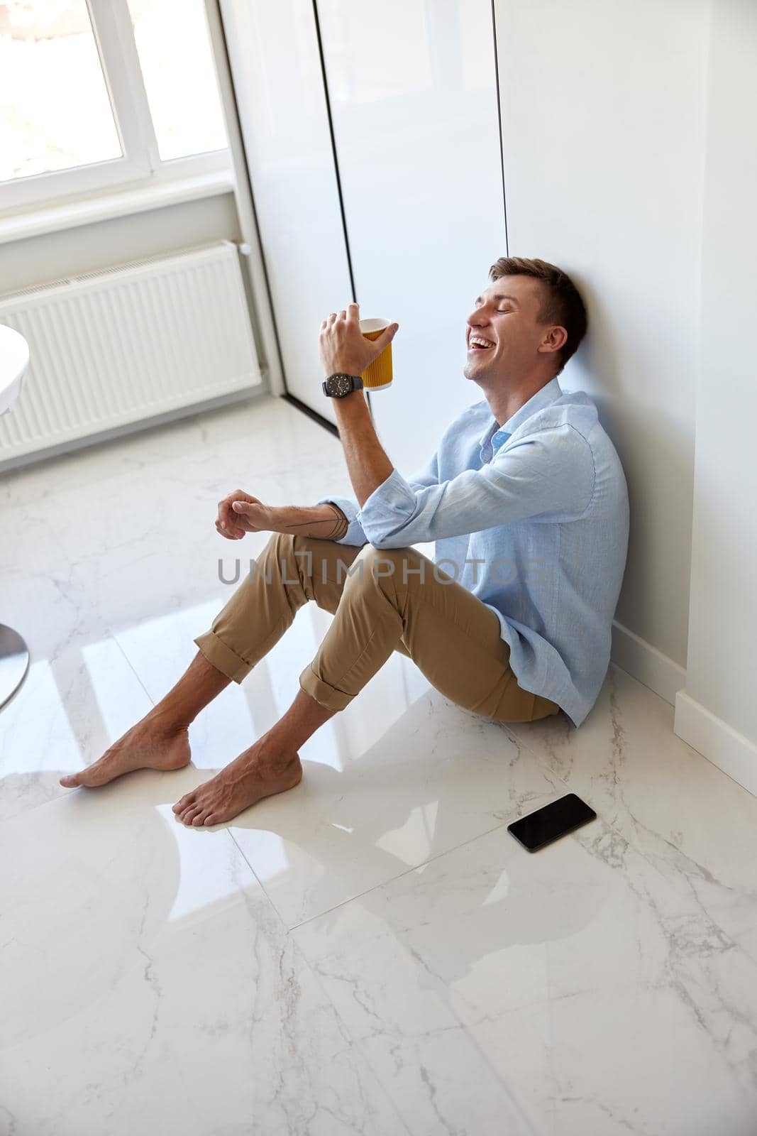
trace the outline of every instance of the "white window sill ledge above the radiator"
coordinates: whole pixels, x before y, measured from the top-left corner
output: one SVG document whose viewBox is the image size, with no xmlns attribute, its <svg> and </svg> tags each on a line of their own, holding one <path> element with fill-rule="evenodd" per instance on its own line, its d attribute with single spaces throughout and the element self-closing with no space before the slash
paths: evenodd
<svg viewBox="0 0 757 1136">
<path fill-rule="evenodd" d="M 232 173 L 221 170 L 166 182 L 162 185 L 107 193 L 86 201 L 69 201 L 65 204 L 18 214 L 15 217 L 0 217 L 0 244 L 30 236 L 42 236 L 44 233 L 54 233 L 62 228 L 74 228 L 76 225 L 91 225 L 98 220 L 144 212 L 146 209 L 159 209 L 161 206 L 178 204 L 182 201 L 210 198 L 217 193 L 230 193 L 233 190 Z"/>
</svg>

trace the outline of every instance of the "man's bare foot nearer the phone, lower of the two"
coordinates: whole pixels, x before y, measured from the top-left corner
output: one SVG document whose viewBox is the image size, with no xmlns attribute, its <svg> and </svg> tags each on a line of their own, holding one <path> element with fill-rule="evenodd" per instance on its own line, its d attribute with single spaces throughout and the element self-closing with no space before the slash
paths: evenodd
<svg viewBox="0 0 757 1136">
<path fill-rule="evenodd" d="M 210 780 L 185 793 L 174 805 L 178 819 L 197 828 L 222 825 L 262 797 L 285 793 L 298 785 L 302 780 L 300 754 L 271 754 L 261 741 Z"/>
</svg>

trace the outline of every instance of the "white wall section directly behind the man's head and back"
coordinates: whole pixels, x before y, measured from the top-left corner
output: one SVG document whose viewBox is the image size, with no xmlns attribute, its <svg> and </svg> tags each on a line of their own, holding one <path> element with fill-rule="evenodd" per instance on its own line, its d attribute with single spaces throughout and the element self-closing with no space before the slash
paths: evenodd
<svg viewBox="0 0 757 1136">
<path fill-rule="evenodd" d="M 683 686 L 698 369 L 707 0 L 496 0 L 511 256 L 575 281 L 586 390 L 631 537 L 613 658 Z"/>
</svg>

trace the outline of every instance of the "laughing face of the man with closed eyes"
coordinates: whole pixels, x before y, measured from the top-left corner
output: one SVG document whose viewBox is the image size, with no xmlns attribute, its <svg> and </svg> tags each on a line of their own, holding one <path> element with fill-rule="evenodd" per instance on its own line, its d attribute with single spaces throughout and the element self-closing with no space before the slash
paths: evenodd
<svg viewBox="0 0 757 1136">
<path fill-rule="evenodd" d="M 463 374 L 466 378 L 502 377 L 516 381 L 529 376 L 542 365 L 549 327 L 537 321 L 541 307 L 542 284 L 532 276 L 501 276 L 476 300 L 468 317 L 465 344 L 468 356 Z M 566 337 L 566 333 L 563 333 Z M 557 335 L 557 342 L 564 339 Z M 477 346 L 482 340 L 489 346 Z M 555 359 L 550 358 L 550 364 Z"/>
</svg>

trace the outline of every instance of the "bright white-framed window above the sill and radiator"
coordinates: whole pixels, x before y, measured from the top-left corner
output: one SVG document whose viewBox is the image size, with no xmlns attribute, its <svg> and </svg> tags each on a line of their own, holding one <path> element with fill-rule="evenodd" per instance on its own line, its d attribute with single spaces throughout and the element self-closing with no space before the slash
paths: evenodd
<svg viewBox="0 0 757 1136">
<path fill-rule="evenodd" d="M 204 0 L 0 3 L 0 217 L 221 169 Z"/>
</svg>

